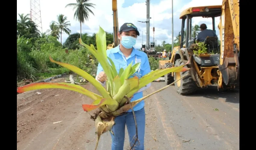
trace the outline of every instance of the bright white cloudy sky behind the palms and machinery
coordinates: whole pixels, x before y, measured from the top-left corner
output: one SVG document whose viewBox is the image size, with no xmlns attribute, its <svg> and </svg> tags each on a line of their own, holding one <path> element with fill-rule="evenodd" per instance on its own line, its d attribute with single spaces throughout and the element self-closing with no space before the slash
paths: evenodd
<svg viewBox="0 0 256 150">
<path fill-rule="evenodd" d="M 74 27 L 75 29 L 72 30 L 72 33 L 80 32 L 80 24 L 78 21 L 73 19 L 74 11 L 72 7 L 65 6 L 69 3 L 75 3 L 76 0 L 44 0 L 40 1 L 41 5 L 41 18 L 42 18 L 42 28 L 43 32 L 45 32 L 47 29 L 49 29 L 49 24 L 52 20 L 57 19 L 58 14 L 64 14 L 67 16 L 67 19 L 71 23 L 71 27 Z M 105 0 L 105 1 L 90 1 L 94 4 L 96 4 L 95 9 L 92 8 L 92 11 L 94 12 L 95 16 L 90 15 L 89 21 L 85 22 L 85 25 L 89 26 L 89 30 L 85 30 L 85 26 L 82 26 L 82 32 L 97 32 L 98 27 L 101 26 L 105 31 L 107 32 L 113 32 L 113 16 L 112 16 L 112 3 L 111 0 Z M 118 22 L 119 27 L 125 23 L 125 22 L 132 22 L 134 23 L 139 30 L 144 31 L 143 34 L 143 42 L 146 41 L 145 36 L 145 23 L 137 22 L 139 21 L 145 21 L 146 20 L 146 5 L 145 2 L 143 3 L 135 3 L 130 7 L 122 8 L 124 0 L 118 0 L 117 1 L 117 9 L 118 9 Z M 200 5 L 216 5 L 221 4 L 221 0 L 217 1 L 205 1 L 205 0 L 192 0 L 188 4 L 180 4 L 180 1 L 173 1 L 174 9 L 176 10 L 184 10 L 188 7 L 193 7 L 197 4 Z M 183 7 L 184 6 L 184 7 Z M 150 5 L 150 16 L 151 19 L 151 28 L 153 27 L 153 23 L 156 25 L 157 23 L 164 23 L 162 22 L 163 19 L 170 19 L 171 17 L 171 0 L 161 0 L 159 4 L 151 4 Z M 30 13 L 30 0 L 17 0 L 17 13 Z M 180 15 L 180 11 L 177 11 L 173 13 L 174 17 Z M 18 14 L 17 14 L 18 18 Z M 201 21 L 200 19 L 193 19 L 193 24 L 198 23 Z M 181 22 L 181 20 L 179 20 Z M 216 19 L 216 22 L 219 22 L 218 19 Z M 209 24 L 209 23 L 207 23 Z M 171 24 L 169 30 L 171 29 Z M 209 26 L 209 25 L 208 25 Z M 210 26 L 209 26 L 210 28 Z M 175 29 L 174 29 L 175 30 Z M 177 29 L 176 29 L 177 30 Z M 180 29 L 178 29 L 180 30 Z M 168 30 L 161 29 L 161 26 L 155 26 L 155 37 L 158 37 L 158 35 L 167 35 L 167 39 L 161 39 L 158 40 L 157 43 L 161 43 L 162 41 L 167 41 L 167 43 L 171 43 L 171 35 L 167 33 Z M 142 35 L 142 32 L 140 32 Z M 150 36 L 153 37 L 152 29 L 150 29 Z M 63 41 L 68 37 L 68 35 L 64 34 L 62 36 Z M 153 39 L 150 39 L 152 41 Z M 142 36 L 138 37 L 136 48 L 139 48 L 142 43 Z"/>
</svg>

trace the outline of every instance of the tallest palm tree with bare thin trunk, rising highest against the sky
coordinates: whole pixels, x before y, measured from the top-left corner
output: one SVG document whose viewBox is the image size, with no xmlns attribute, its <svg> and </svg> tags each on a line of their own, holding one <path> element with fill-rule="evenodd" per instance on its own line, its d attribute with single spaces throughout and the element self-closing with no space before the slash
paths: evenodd
<svg viewBox="0 0 256 150">
<path fill-rule="evenodd" d="M 89 13 L 94 13 L 90 10 L 89 7 L 94 8 L 95 4 L 89 3 L 90 0 L 76 0 L 76 3 L 67 4 L 66 7 L 73 6 L 73 10 L 76 9 L 74 13 L 74 19 L 80 22 L 80 38 L 82 38 L 82 23 L 88 21 Z M 65 8 L 66 8 L 65 7 Z"/>
</svg>

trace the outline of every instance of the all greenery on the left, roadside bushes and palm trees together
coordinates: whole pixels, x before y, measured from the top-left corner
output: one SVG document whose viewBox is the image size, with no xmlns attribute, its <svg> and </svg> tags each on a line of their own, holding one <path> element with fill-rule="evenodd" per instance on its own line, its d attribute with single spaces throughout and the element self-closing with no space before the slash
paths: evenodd
<svg viewBox="0 0 256 150">
<path fill-rule="evenodd" d="M 89 0 L 77 0 L 77 4 L 67 4 L 76 9 L 74 18 L 81 23 L 88 21 L 89 13 L 93 14 L 89 7 L 95 4 Z M 66 6 L 66 7 L 67 7 Z M 54 60 L 75 65 L 92 76 L 95 76 L 98 61 L 89 58 L 89 51 L 79 44 L 82 37 L 86 44 L 96 46 L 95 33 L 90 36 L 87 33 L 70 34 L 70 22 L 66 16 L 59 14 L 56 21 L 50 22 L 49 29 L 40 33 L 37 25 L 30 20 L 29 14 L 19 14 L 17 19 L 17 82 L 23 79 L 46 79 L 58 74 L 69 73 L 70 70 L 50 62 L 49 56 Z M 69 35 L 62 46 L 62 35 Z M 113 34 L 106 32 L 107 44 L 113 43 Z M 59 42 L 60 40 L 61 42 Z"/>
</svg>

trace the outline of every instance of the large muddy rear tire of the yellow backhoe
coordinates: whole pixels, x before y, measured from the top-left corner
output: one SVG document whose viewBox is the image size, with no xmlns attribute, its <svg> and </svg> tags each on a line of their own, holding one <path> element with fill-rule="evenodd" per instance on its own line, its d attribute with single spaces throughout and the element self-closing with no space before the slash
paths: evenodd
<svg viewBox="0 0 256 150">
<path fill-rule="evenodd" d="M 184 65 L 183 61 L 181 59 L 177 59 L 175 61 L 174 67 L 178 67 L 181 65 Z M 184 67 L 187 68 L 187 66 Z M 174 80 L 176 81 L 187 74 L 189 74 L 188 77 L 183 78 L 178 82 L 175 82 L 175 89 L 180 95 L 190 95 L 198 89 L 189 70 L 184 72 L 174 72 Z"/>
</svg>

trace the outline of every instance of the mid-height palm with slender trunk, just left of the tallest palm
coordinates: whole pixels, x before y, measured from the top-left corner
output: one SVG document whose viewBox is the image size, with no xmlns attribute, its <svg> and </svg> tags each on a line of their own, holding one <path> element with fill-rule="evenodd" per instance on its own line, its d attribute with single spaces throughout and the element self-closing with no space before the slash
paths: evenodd
<svg viewBox="0 0 256 150">
<path fill-rule="evenodd" d="M 63 14 L 60 14 L 57 16 L 58 22 L 54 21 L 54 23 L 57 26 L 57 31 L 61 32 L 61 45 L 62 45 L 62 31 L 67 33 L 67 35 L 70 35 L 71 30 L 68 29 L 67 27 L 70 26 L 69 21 L 67 21 L 67 17 L 64 16 Z"/>
</svg>

